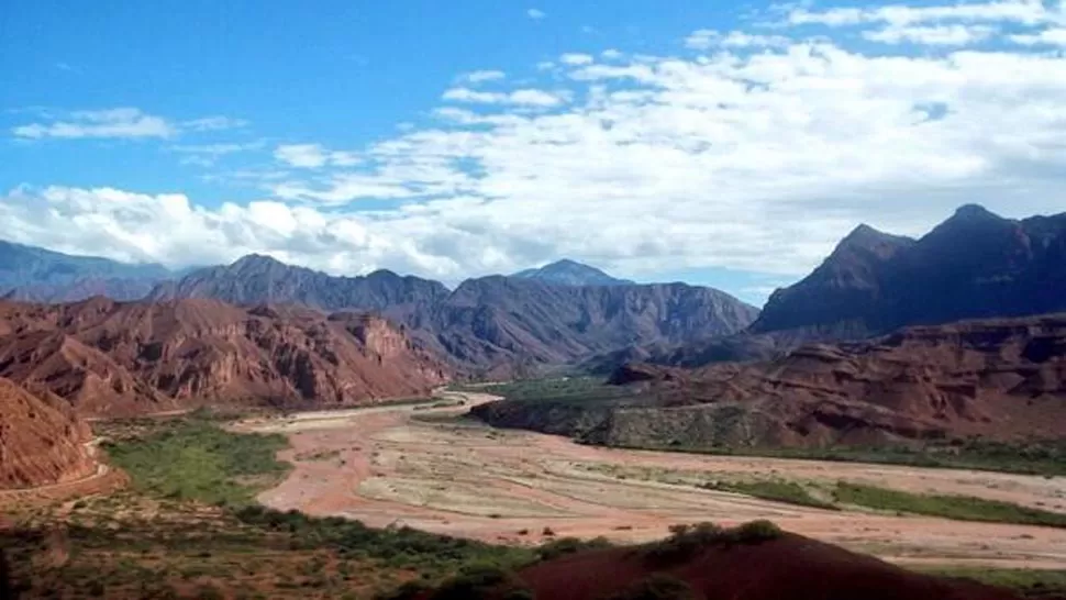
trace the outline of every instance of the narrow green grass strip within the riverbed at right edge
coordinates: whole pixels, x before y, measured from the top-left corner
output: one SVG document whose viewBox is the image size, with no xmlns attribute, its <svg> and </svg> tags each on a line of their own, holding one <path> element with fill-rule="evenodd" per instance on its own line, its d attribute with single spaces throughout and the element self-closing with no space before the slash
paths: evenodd
<svg viewBox="0 0 1066 600">
<path fill-rule="evenodd" d="M 877 510 L 982 521 L 1066 527 L 1066 514 L 970 496 L 922 495 L 840 481 L 833 491 L 837 502 Z"/>
</svg>

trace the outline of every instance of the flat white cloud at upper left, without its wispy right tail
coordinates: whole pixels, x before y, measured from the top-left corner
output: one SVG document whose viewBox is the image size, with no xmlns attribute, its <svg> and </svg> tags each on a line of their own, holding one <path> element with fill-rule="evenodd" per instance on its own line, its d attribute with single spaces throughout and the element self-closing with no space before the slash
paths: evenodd
<svg viewBox="0 0 1066 600">
<path fill-rule="evenodd" d="M 76 111 L 68 120 L 51 123 L 32 123 L 12 130 L 18 137 L 41 140 L 44 137 L 171 137 L 178 129 L 166 119 L 141 112 L 140 109 L 120 108 L 98 111 Z"/>
</svg>

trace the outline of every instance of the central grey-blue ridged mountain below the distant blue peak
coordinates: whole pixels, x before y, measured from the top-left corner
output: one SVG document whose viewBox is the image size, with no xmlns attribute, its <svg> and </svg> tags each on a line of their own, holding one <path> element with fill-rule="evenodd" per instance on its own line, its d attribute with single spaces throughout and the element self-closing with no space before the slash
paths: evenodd
<svg viewBox="0 0 1066 600">
<path fill-rule="evenodd" d="M 559 286 L 495 276 L 464 281 L 429 319 L 410 324 L 431 332 L 429 342 L 460 364 L 507 374 L 514 365 L 571 364 L 634 344 L 725 335 L 757 314 L 724 292 L 685 284 Z"/>
</svg>

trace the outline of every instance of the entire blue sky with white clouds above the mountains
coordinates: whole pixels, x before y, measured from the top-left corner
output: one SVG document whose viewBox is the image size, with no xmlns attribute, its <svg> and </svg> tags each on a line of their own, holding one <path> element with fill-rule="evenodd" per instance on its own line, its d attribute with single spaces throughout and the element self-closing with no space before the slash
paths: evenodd
<svg viewBox="0 0 1066 600">
<path fill-rule="evenodd" d="M 5 0 L 0 237 L 762 303 L 859 223 L 1066 211 L 1064 52 L 1066 0 Z"/>
</svg>

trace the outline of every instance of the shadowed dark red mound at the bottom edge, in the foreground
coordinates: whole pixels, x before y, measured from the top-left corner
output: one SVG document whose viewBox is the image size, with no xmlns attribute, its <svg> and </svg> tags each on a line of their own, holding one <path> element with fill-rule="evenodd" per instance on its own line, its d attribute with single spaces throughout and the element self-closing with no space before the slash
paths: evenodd
<svg viewBox="0 0 1066 600">
<path fill-rule="evenodd" d="M 771 523 L 698 525 L 655 544 L 586 549 L 513 575 L 477 571 L 409 598 L 507 600 L 1015 600 L 1004 589 L 921 575 Z"/>
</svg>

